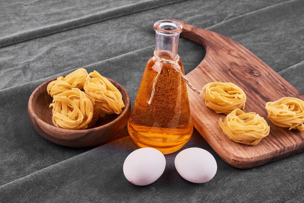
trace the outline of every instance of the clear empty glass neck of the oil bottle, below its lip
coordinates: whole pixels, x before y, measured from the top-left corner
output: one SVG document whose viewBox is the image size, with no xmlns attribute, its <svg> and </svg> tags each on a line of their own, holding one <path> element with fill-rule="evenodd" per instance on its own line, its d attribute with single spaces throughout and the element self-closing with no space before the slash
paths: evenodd
<svg viewBox="0 0 304 203">
<path fill-rule="evenodd" d="M 177 55 L 179 33 L 162 34 L 158 31 L 155 33 L 155 52 L 159 57 L 170 56 L 174 60 Z"/>
</svg>

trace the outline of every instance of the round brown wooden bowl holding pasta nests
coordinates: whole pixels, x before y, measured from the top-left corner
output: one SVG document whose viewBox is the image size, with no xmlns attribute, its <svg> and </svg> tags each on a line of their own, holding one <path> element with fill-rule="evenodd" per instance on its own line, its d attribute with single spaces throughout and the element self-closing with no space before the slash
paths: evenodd
<svg viewBox="0 0 304 203">
<path fill-rule="evenodd" d="M 28 102 L 28 114 L 35 130 L 47 140 L 68 147 L 98 146 L 123 130 L 131 113 L 131 101 L 128 92 L 117 82 L 108 79 L 115 85 L 122 95 L 125 107 L 120 115 L 111 114 L 99 118 L 94 126 L 84 130 L 67 130 L 56 127 L 52 122 L 52 102 L 47 93 L 47 86 L 51 79 L 38 86 L 32 93 Z"/>
</svg>

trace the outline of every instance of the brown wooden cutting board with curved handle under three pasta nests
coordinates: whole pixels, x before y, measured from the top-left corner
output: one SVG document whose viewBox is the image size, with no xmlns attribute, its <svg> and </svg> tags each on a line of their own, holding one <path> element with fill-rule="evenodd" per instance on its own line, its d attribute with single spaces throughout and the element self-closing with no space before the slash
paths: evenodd
<svg viewBox="0 0 304 203">
<path fill-rule="evenodd" d="M 177 20 L 178 21 L 178 20 Z M 223 35 L 180 22 L 181 37 L 202 45 L 203 61 L 186 75 L 190 83 L 202 89 L 210 82 L 232 82 L 246 95 L 245 112 L 256 112 L 270 125 L 270 134 L 256 146 L 231 141 L 218 125 L 226 115 L 216 114 L 204 104 L 204 99 L 188 89 L 194 127 L 215 152 L 229 165 L 246 169 L 269 163 L 304 151 L 304 131 L 275 126 L 267 118 L 265 104 L 282 97 L 304 100 L 303 94 L 242 45 Z"/>
</svg>

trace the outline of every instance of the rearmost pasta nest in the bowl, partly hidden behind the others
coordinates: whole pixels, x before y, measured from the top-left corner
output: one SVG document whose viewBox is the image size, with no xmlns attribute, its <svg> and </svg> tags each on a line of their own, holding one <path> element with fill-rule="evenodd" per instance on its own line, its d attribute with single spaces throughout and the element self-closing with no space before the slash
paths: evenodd
<svg viewBox="0 0 304 203">
<path fill-rule="evenodd" d="M 54 95 L 71 90 L 72 88 L 82 89 L 87 76 L 87 71 L 84 68 L 79 68 L 68 74 L 66 77 L 58 77 L 57 80 L 49 83 L 47 92 L 51 97 L 53 97 Z"/>
</svg>

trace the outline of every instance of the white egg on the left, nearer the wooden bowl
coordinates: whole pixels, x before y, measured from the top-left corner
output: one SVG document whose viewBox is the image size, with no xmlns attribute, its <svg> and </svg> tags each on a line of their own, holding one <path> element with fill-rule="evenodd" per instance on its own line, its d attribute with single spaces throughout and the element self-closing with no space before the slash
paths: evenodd
<svg viewBox="0 0 304 203">
<path fill-rule="evenodd" d="M 123 163 L 123 174 L 137 186 L 155 182 L 164 172 L 166 159 L 162 152 L 153 148 L 140 148 L 130 153 Z"/>
</svg>

